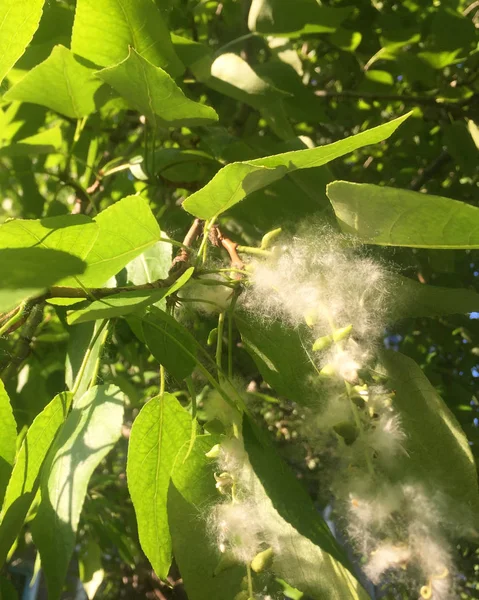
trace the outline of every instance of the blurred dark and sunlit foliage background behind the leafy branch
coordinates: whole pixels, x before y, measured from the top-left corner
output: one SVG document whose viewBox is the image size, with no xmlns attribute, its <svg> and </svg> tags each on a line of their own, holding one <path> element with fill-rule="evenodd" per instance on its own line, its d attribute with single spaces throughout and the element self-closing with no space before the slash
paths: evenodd
<svg viewBox="0 0 479 600">
<path fill-rule="evenodd" d="M 91 39 L 76 41 L 78 49 L 82 43 L 101 46 L 115 27 L 109 20 L 110 3 L 98 0 L 96 5 L 103 17 L 96 29 L 91 25 Z M 294 228 L 312 215 L 332 221 L 325 185 L 333 179 L 409 188 L 478 206 L 477 2 L 156 0 L 156 5 L 187 67 L 175 74 L 177 83 L 189 98 L 212 106 L 218 124 L 167 128 L 159 123 L 148 130 L 138 110 L 103 87 L 94 96 L 97 110 L 91 111 L 78 136 L 74 115 L 52 110 L 48 98 L 58 94 L 54 79 L 43 81 L 43 104 L 9 101 L 7 95 L 0 112 L 2 220 L 88 214 L 89 199 L 104 209 L 141 191 L 162 230 L 181 240 L 191 224 L 181 202 L 226 161 L 327 144 L 409 109 L 414 114 L 399 135 L 251 194 L 221 218 L 221 225 L 237 241 L 253 245 L 265 232 Z M 40 27 L 4 80 L 3 93 L 44 61 L 56 44 L 70 47 L 74 10 L 73 1 L 45 3 Z M 19 144 L 42 132 L 46 137 L 40 149 L 26 151 Z M 171 260 L 168 252 L 164 249 L 163 273 Z M 420 282 L 479 291 L 476 251 L 388 252 L 404 274 Z M 214 324 L 192 313 L 190 326 L 205 339 Z M 28 361 L 18 378 L 7 382 L 19 427 L 29 425 L 64 390 L 65 354 L 78 360 L 75 353 L 91 335 L 90 325 L 81 327 L 67 330 L 51 311 L 37 330 Z M 421 365 L 459 418 L 476 457 L 478 328 L 476 312 L 404 320 L 385 337 L 386 346 Z M 0 339 L 5 364 L 14 342 L 15 335 Z M 259 382 L 241 348 L 236 361 L 245 380 Z M 104 579 L 97 597 L 182 598 L 181 586 L 173 584 L 178 573 L 173 570 L 170 589 L 143 556 L 126 488 L 129 426 L 145 400 L 158 392 L 158 373 L 149 352 L 123 321 L 116 323 L 103 350 L 100 377 L 128 396 L 127 424 L 90 482 L 79 528 L 80 563 L 86 568 L 88 556 L 94 557 L 92 564 L 95 557 L 98 561 L 101 547 Z M 317 471 L 308 449 L 295 441 L 294 407 L 259 400 L 255 406 L 314 495 Z M 11 561 L 12 573 L 31 568 L 30 541 L 27 529 Z M 463 545 L 458 554 L 463 597 L 477 598 L 476 548 Z"/>
</svg>

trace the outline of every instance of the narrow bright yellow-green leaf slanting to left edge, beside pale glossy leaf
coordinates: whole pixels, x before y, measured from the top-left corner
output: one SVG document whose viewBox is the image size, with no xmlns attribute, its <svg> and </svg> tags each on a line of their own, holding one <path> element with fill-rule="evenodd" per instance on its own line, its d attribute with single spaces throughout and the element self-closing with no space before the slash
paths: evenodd
<svg viewBox="0 0 479 600">
<path fill-rule="evenodd" d="M 72 401 L 62 392 L 45 406 L 30 425 L 18 452 L 0 513 L 0 565 L 20 533 L 35 498 L 38 476 L 47 452 L 66 419 Z"/>
</svg>

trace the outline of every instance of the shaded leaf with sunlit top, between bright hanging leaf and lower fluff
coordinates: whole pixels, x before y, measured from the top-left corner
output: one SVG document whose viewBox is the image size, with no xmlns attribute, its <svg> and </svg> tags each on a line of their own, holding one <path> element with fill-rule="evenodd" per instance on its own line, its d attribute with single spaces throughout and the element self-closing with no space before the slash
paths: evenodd
<svg viewBox="0 0 479 600">
<path fill-rule="evenodd" d="M 218 501 L 219 494 L 213 475 L 215 463 L 205 454 L 219 441 L 216 436 L 198 436 L 188 458 L 178 456 L 168 491 L 173 552 L 189 600 L 233 600 L 245 575 L 243 566 L 214 575 L 221 554 L 208 543 L 204 511 Z M 186 451 L 184 448 L 184 454 Z"/>
</svg>

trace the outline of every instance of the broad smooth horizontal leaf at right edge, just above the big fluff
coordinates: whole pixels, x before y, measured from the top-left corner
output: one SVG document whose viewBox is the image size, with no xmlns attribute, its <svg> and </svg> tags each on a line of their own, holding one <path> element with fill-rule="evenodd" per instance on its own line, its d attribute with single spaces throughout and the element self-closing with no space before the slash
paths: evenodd
<svg viewBox="0 0 479 600">
<path fill-rule="evenodd" d="M 366 244 L 479 248 L 479 208 L 419 192 L 334 181 L 327 187 L 341 229 Z"/>
</svg>

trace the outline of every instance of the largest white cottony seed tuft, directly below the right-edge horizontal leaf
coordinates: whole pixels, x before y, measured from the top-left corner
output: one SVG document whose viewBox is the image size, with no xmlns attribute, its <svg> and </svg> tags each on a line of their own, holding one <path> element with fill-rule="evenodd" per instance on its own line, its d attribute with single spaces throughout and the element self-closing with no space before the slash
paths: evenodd
<svg viewBox="0 0 479 600">
<path fill-rule="evenodd" d="M 292 325 L 306 320 L 318 337 L 352 325 L 353 335 L 372 342 L 383 329 L 388 272 L 346 236 L 308 227 L 251 268 L 247 310 Z"/>
</svg>

